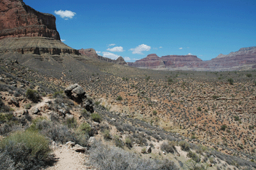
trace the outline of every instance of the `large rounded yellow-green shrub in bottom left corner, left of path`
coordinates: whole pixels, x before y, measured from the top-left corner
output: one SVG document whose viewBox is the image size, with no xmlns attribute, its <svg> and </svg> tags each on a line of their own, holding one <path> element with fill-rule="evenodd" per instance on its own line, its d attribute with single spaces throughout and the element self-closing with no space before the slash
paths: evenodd
<svg viewBox="0 0 256 170">
<path fill-rule="evenodd" d="M 10 163 L 11 169 L 40 169 L 49 163 L 49 141 L 36 132 L 16 132 L 0 141 L 1 167 Z"/>
</svg>

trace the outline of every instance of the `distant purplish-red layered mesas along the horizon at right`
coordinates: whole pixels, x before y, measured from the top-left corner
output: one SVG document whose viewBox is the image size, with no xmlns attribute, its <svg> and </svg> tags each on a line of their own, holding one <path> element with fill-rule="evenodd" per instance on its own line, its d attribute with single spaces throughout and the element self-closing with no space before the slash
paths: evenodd
<svg viewBox="0 0 256 170">
<path fill-rule="evenodd" d="M 146 58 L 128 63 L 128 65 L 157 70 L 248 70 L 256 67 L 256 47 L 242 48 L 227 55 L 220 54 L 211 61 L 202 61 L 202 59 L 192 55 L 169 55 L 159 58 L 156 54 L 149 54 Z"/>
</svg>

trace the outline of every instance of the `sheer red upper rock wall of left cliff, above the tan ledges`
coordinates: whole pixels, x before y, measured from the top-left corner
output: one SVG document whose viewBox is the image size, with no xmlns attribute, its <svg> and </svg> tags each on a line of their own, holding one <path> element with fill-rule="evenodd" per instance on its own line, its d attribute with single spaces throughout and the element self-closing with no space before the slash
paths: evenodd
<svg viewBox="0 0 256 170">
<path fill-rule="evenodd" d="M 0 1 L 0 40 L 41 36 L 60 40 L 54 15 L 37 12 L 22 0 Z"/>
</svg>

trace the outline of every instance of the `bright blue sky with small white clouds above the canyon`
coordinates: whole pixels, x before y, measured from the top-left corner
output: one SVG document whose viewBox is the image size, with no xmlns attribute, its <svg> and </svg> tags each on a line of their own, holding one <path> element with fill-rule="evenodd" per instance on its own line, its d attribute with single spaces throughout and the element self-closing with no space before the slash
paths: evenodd
<svg viewBox="0 0 256 170">
<path fill-rule="evenodd" d="M 193 54 L 203 60 L 256 46 L 256 1 L 35 1 L 56 16 L 61 40 L 74 49 L 134 62 L 148 54 Z"/>
</svg>

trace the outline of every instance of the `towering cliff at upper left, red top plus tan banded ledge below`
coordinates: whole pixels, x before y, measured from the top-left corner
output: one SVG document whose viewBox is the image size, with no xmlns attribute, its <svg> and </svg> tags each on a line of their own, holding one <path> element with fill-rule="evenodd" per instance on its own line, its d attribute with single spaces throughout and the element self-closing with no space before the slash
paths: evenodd
<svg viewBox="0 0 256 170">
<path fill-rule="evenodd" d="M 60 41 L 56 18 L 37 12 L 22 0 L 0 1 L 0 52 L 79 54 Z"/>
</svg>

